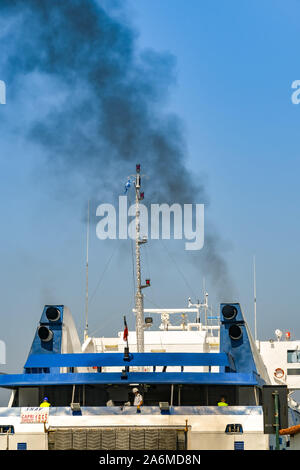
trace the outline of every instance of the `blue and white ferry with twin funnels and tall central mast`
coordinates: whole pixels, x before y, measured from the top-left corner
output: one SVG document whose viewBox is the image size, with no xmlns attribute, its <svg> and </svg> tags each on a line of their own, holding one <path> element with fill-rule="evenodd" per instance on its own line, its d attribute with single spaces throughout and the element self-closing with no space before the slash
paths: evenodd
<svg viewBox="0 0 300 470">
<path fill-rule="evenodd" d="M 11 390 L 0 408 L 0 449 L 300 448 L 291 397 L 300 388 L 300 341 L 278 331 L 255 341 L 238 302 L 209 316 L 207 294 L 184 308 L 144 309 L 139 165 L 134 187 L 136 330 L 124 318 L 116 337 L 89 337 L 86 328 L 81 344 L 69 309 L 45 305 L 23 372 L 0 375 Z M 45 397 L 51 406 L 40 406 Z"/>
</svg>

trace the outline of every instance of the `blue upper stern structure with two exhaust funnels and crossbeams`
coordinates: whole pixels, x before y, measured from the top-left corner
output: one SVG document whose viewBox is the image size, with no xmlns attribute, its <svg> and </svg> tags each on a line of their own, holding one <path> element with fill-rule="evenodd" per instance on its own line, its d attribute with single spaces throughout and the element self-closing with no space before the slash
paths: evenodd
<svg viewBox="0 0 300 470">
<path fill-rule="evenodd" d="M 63 397 L 64 405 L 76 397 L 81 403 L 96 405 L 100 400 L 105 405 L 111 386 L 120 390 L 120 396 L 128 396 L 132 384 L 141 386 L 144 403 L 149 404 L 158 405 L 165 396 L 172 404 L 213 405 L 216 394 L 225 392 L 232 404 L 245 400 L 258 404 L 258 389 L 269 383 L 239 304 L 221 305 L 219 352 L 209 352 L 207 329 L 201 326 L 197 330 L 149 331 L 149 352 L 135 352 L 130 343 L 124 352 L 90 353 L 88 347 L 78 352 L 78 342 L 70 340 L 75 337 L 74 325 L 64 310 L 63 306 L 45 307 L 23 374 L 0 376 L 0 386 L 14 390 L 12 405 L 36 405 L 44 394 L 58 402 Z M 173 345 L 173 352 L 159 347 L 160 334 L 165 344 Z M 171 340 L 173 334 L 178 339 Z M 199 352 L 178 352 L 187 341 L 180 344 L 181 335 L 197 337 Z"/>
</svg>

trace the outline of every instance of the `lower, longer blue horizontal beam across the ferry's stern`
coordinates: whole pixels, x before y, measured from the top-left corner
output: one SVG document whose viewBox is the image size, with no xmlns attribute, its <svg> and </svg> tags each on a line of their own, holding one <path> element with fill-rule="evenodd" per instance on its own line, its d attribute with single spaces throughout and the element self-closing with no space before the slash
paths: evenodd
<svg viewBox="0 0 300 470">
<path fill-rule="evenodd" d="M 0 376 L 0 387 L 16 388 L 41 385 L 73 384 L 215 384 L 215 385 L 258 385 L 255 374 L 211 373 L 211 372 L 128 372 L 121 378 L 121 372 L 74 373 L 74 374 L 11 374 Z"/>
</svg>

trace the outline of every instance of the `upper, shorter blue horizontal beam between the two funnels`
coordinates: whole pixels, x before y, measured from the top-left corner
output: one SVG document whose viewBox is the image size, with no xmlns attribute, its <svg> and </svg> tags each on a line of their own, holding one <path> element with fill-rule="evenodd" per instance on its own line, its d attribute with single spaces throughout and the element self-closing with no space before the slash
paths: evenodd
<svg viewBox="0 0 300 470">
<path fill-rule="evenodd" d="M 219 353 L 133 353 L 130 361 L 122 353 L 34 354 L 25 368 L 104 366 L 229 366 L 231 358 Z"/>
</svg>

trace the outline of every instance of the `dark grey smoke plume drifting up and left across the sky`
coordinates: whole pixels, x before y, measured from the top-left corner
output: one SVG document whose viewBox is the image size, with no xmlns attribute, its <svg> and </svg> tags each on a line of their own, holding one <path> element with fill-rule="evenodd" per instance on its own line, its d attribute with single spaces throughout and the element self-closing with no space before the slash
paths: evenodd
<svg viewBox="0 0 300 470">
<path fill-rule="evenodd" d="M 85 197 L 113 199 L 110 185 L 120 194 L 139 162 L 151 202 L 208 202 L 186 167 L 183 125 L 163 112 L 175 60 L 139 52 L 124 11 L 111 15 L 95 0 L 1 0 L 0 14 L 4 78 L 13 99 L 22 80 L 36 87 L 40 112 L 26 115 L 22 132 L 52 171 L 82 178 Z M 52 99 L 39 104 L 49 88 Z M 207 224 L 205 247 L 190 258 L 226 292 L 226 263 Z"/>
</svg>

